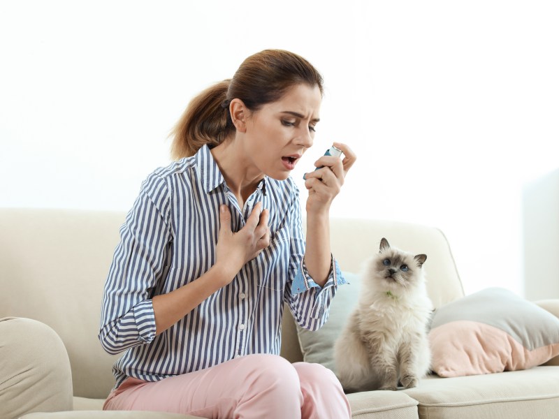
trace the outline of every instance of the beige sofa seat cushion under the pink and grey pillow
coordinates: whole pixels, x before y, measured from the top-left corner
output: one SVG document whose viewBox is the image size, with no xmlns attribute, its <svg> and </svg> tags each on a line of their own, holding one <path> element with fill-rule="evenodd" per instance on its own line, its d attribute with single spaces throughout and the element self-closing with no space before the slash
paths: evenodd
<svg viewBox="0 0 559 419">
<path fill-rule="evenodd" d="M 478 376 L 428 376 L 403 390 L 419 402 L 419 418 L 546 419 L 558 417 L 557 367 Z"/>
</svg>

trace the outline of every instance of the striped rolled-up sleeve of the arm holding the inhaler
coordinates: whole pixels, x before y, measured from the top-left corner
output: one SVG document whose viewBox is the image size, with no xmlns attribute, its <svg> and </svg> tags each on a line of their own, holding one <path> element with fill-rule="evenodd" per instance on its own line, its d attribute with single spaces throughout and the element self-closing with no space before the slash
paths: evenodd
<svg viewBox="0 0 559 419">
<path fill-rule="evenodd" d="M 286 302 L 296 322 L 305 329 L 318 330 L 328 320 L 330 304 L 337 287 L 346 281 L 340 266 L 331 256 L 331 268 L 324 286 L 319 286 L 310 276 L 305 266 L 305 239 L 301 226 L 298 192 L 293 202 L 291 231 L 291 262 L 289 281 L 286 286 Z"/>
</svg>

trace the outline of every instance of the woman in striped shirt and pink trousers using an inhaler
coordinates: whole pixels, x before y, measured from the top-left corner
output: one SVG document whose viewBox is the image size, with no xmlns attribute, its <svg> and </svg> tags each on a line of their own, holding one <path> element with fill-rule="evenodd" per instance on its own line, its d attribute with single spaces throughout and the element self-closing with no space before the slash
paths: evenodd
<svg viewBox="0 0 559 419">
<path fill-rule="evenodd" d="M 312 146 L 322 78 L 283 50 L 247 58 L 194 98 L 175 127 L 175 163 L 155 170 L 121 228 L 99 339 L 126 350 L 104 409 L 207 418 L 344 418 L 334 374 L 279 357 L 284 303 L 317 330 L 344 284 L 328 212 L 356 157 L 307 173 L 306 246 L 289 177 Z"/>
</svg>

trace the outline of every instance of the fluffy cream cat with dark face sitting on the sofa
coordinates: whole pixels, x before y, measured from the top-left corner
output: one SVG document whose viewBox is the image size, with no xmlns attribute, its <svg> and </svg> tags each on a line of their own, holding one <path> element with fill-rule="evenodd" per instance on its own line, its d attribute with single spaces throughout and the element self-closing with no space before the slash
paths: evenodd
<svg viewBox="0 0 559 419">
<path fill-rule="evenodd" d="M 427 256 L 390 247 L 383 238 L 361 274 L 361 293 L 334 346 L 335 369 L 347 392 L 415 387 L 430 371 Z"/>
</svg>

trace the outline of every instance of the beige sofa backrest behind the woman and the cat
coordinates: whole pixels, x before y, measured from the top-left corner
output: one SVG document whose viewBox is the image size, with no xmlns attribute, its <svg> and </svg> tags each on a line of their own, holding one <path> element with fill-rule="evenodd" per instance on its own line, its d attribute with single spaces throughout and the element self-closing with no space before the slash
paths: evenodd
<svg viewBox="0 0 559 419">
<path fill-rule="evenodd" d="M 112 364 L 97 339 L 103 285 L 124 212 L 0 209 L 0 318 L 27 317 L 58 332 L 68 351 L 74 395 L 104 398 Z M 430 297 L 439 307 L 463 295 L 449 245 L 436 228 L 391 221 L 332 219 L 332 250 L 342 271 L 358 272 L 380 239 L 426 253 Z M 291 316 L 282 355 L 300 360 Z M 1 339 L 1 337 L 0 337 Z"/>
</svg>

